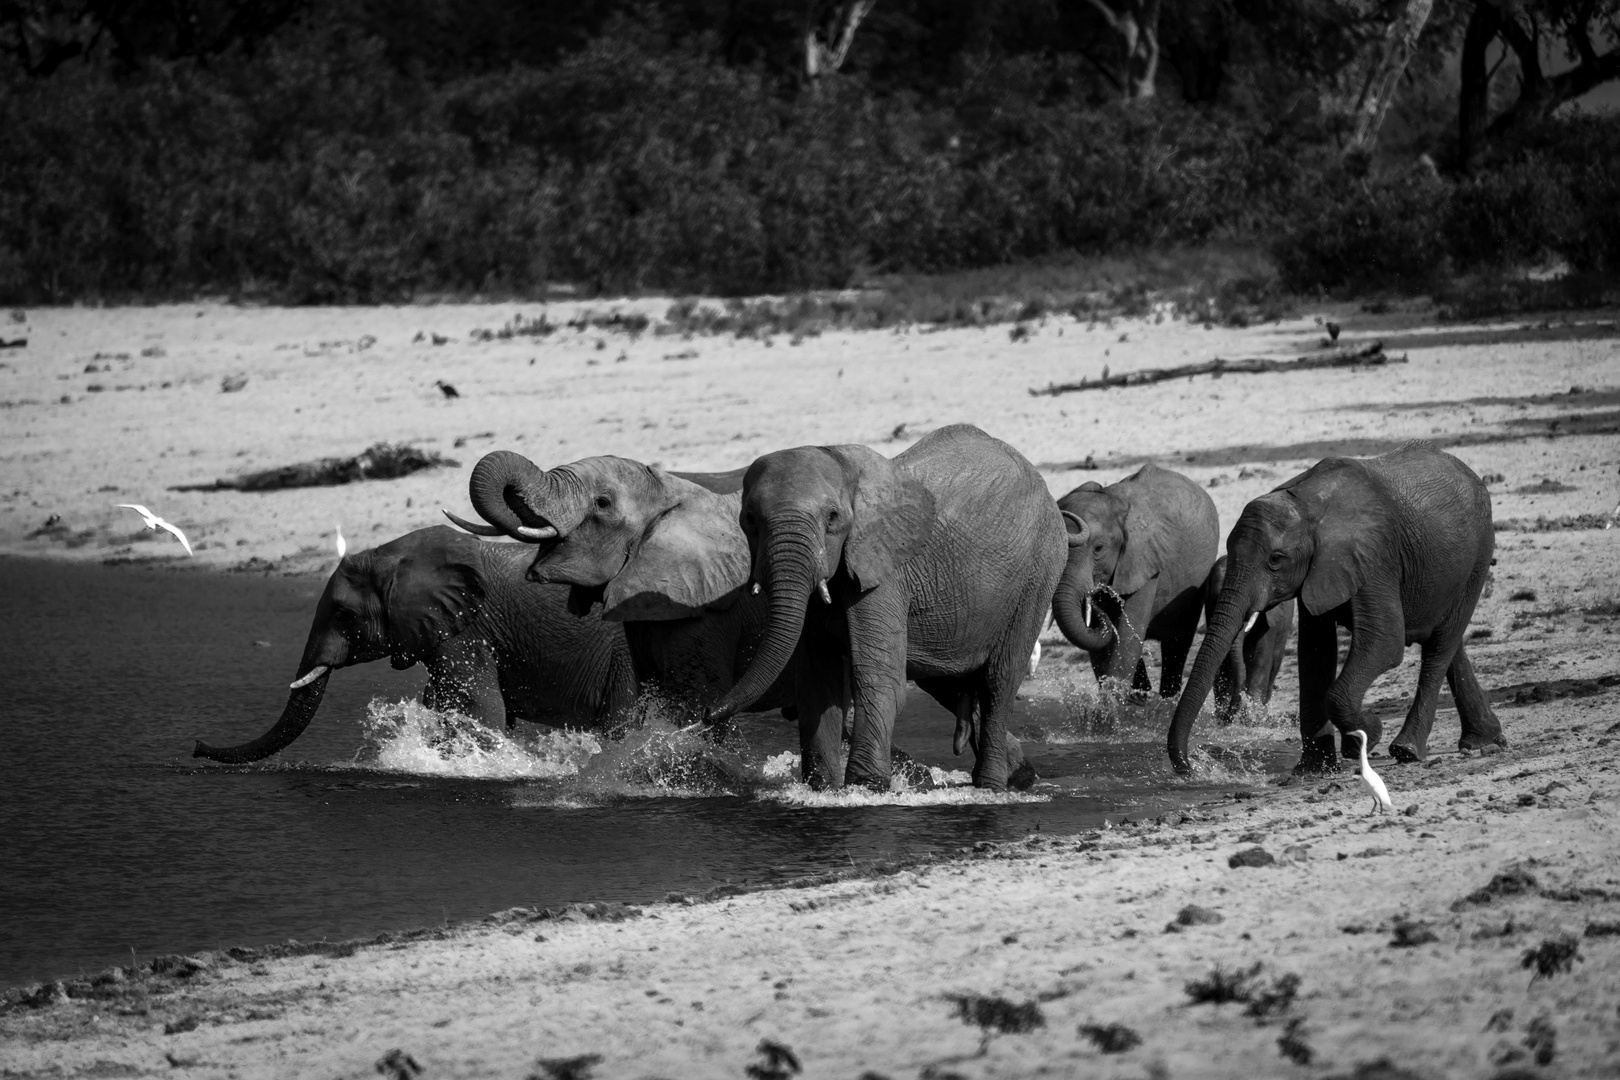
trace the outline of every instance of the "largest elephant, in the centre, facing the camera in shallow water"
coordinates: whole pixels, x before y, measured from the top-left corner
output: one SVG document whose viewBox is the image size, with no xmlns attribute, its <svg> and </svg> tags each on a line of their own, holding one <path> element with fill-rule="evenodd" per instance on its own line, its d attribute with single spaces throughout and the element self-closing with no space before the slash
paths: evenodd
<svg viewBox="0 0 1620 1080">
<path fill-rule="evenodd" d="M 1006 712 L 1066 544 L 1045 481 L 1017 450 L 966 424 L 930 432 L 894 460 L 862 445 L 779 450 L 748 466 L 740 521 L 770 617 L 758 654 L 711 721 L 791 667 L 805 777 L 883 790 L 912 678 L 956 712 L 957 748 L 974 748 L 974 784 L 1034 780 Z"/>
</svg>

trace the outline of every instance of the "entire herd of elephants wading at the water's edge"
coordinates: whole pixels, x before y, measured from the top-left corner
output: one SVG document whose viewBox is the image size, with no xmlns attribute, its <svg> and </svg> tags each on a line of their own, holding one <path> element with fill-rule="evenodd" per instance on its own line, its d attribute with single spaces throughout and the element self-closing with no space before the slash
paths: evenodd
<svg viewBox="0 0 1620 1080">
<path fill-rule="evenodd" d="M 1461 745 L 1500 743 L 1463 636 L 1492 557 L 1490 499 L 1455 457 L 1408 444 L 1327 458 L 1244 507 L 1218 555 L 1215 505 L 1147 465 L 1056 502 L 1017 450 L 957 424 L 894 458 L 795 447 L 732 473 L 669 473 L 619 457 L 552 470 L 507 450 L 473 470 L 475 523 L 418 529 L 340 560 L 271 730 L 196 756 L 256 761 L 308 727 L 334 669 L 384 656 L 428 669 L 424 704 L 486 724 L 620 725 L 646 691 L 676 719 L 721 725 L 779 709 L 815 787 L 886 789 L 907 682 L 956 717 L 974 784 L 1027 787 L 1008 709 L 1048 619 L 1098 678 L 1181 699 L 1168 750 L 1210 690 L 1230 716 L 1265 701 L 1299 622 L 1301 769 L 1354 758 L 1371 682 L 1422 646 L 1418 693 L 1390 751 L 1424 758 L 1439 683 Z M 517 544 L 486 542 L 510 538 Z M 1199 619 L 1204 644 L 1183 687 Z M 1338 664 L 1336 627 L 1349 631 Z"/>
</svg>

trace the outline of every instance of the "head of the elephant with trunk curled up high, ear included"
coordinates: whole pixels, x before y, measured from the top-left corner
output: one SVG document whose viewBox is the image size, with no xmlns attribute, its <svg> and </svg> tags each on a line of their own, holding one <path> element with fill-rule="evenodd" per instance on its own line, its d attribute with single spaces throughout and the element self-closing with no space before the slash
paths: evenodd
<svg viewBox="0 0 1620 1080">
<path fill-rule="evenodd" d="M 706 474 L 714 486 L 735 478 Z M 509 450 L 486 455 L 468 494 L 480 526 L 536 546 L 530 581 L 572 585 L 569 609 L 598 599 L 603 617 L 685 619 L 724 602 L 748 580 L 748 546 L 737 529 L 737 495 L 629 458 L 596 457 L 543 471 Z"/>
</svg>

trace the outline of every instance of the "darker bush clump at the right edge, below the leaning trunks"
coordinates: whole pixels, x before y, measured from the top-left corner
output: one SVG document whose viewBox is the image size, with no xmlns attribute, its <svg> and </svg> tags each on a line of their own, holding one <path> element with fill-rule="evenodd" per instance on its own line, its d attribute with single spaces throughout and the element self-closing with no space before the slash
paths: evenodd
<svg viewBox="0 0 1620 1080">
<path fill-rule="evenodd" d="M 1302 199 L 1273 246 L 1296 290 L 1426 283 L 1562 257 L 1620 272 L 1620 123 L 1571 117 L 1505 147 L 1487 170 L 1358 178 L 1341 170 Z"/>
</svg>

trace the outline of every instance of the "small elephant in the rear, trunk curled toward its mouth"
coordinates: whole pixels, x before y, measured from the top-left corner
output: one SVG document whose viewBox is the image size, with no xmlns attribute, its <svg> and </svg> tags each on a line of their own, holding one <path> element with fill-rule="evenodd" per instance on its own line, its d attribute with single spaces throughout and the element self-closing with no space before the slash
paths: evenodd
<svg viewBox="0 0 1620 1080">
<path fill-rule="evenodd" d="M 1142 641 L 1160 643 L 1158 693 L 1181 690 L 1220 549 L 1215 502 L 1170 470 L 1144 465 L 1116 484 L 1081 484 L 1058 500 L 1069 534 L 1051 614 L 1092 670 L 1149 691 Z M 1094 619 L 1095 617 L 1095 622 Z"/>
</svg>

